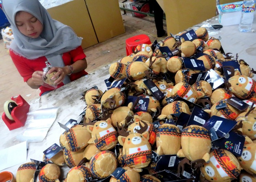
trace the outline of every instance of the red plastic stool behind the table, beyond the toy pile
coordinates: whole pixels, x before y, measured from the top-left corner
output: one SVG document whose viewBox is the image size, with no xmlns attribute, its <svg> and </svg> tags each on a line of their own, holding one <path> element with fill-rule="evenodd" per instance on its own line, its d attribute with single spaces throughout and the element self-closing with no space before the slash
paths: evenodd
<svg viewBox="0 0 256 182">
<path fill-rule="evenodd" d="M 146 34 L 140 34 L 137 36 L 130 37 L 126 39 L 126 55 L 129 56 L 135 51 L 135 48 L 139 44 L 151 44 L 149 37 Z M 134 47 L 134 49 L 133 49 Z"/>
</svg>

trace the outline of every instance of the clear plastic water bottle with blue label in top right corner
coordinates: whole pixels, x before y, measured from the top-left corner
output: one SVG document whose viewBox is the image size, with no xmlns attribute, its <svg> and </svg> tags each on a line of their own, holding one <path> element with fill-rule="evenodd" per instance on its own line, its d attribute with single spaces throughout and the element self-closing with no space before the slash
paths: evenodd
<svg viewBox="0 0 256 182">
<path fill-rule="evenodd" d="M 244 0 L 242 7 L 242 16 L 239 24 L 239 31 L 248 32 L 252 28 L 253 16 L 255 11 L 254 0 Z"/>
</svg>

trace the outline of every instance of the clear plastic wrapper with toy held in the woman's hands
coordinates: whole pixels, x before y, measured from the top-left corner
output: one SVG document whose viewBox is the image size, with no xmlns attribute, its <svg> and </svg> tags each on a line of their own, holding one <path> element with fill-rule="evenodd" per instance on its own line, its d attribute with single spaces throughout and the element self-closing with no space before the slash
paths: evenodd
<svg viewBox="0 0 256 182">
<path fill-rule="evenodd" d="M 49 87 L 49 88 L 53 88 L 53 89 L 56 89 L 57 88 L 57 85 L 54 84 L 54 81 L 57 80 L 59 77 L 57 77 L 56 79 L 52 80 L 52 76 L 57 73 L 56 71 L 53 71 L 51 72 L 50 74 L 48 74 L 48 71 L 52 68 L 51 65 L 49 64 L 48 61 L 45 62 L 46 64 L 46 67 L 43 69 L 44 71 L 44 74 L 42 75 L 42 78 L 45 82 L 44 87 Z"/>
</svg>

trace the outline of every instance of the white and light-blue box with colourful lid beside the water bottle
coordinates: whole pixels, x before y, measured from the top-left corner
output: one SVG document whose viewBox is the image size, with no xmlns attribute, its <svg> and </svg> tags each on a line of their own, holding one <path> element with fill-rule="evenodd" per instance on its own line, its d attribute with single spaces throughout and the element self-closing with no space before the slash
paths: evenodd
<svg viewBox="0 0 256 182">
<path fill-rule="evenodd" d="M 217 5 L 219 23 L 223 26 L 238 25 L 242 16 L 243 1 Z"/>
</svg>

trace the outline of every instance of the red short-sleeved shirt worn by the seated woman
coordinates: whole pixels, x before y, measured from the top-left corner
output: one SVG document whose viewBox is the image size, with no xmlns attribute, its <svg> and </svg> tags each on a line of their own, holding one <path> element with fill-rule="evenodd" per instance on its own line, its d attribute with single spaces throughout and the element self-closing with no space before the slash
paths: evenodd
<svg viewBox="0 0 256 182">
<path fill-rule="evenodd" d="M 36 59 L 27 59 L 23 56 L 16 55 L 12 50 L 10 50 L 10 56 L 14 65 L 16 66 L 17 70 L 21 74 L 24 79 L 24 82 L 27 82 L 28 79 L 32 78 L 32 74 L 35 71 L 43 71 L 43 68 L 46 67 L 45 61 L 47 60 L 45 56 L 36 58 Z M 76 49 L 63 53 L 62 59 L 65 65 L 72 65 L 75 61 L 84 59 L 86 55 L 84 54 L 82 46 L 77 47 Z M 83 75 L 88 74 L 86 71 L 82 70 L 78 73 L 73 73 L 70 75 L 70 80 L 74 81 L 80 78 Z M 63 86 L 63 83 L 57 85 L 57 88 Z M 46 91 L 54 90 L 53 88 L 40 86 L 39 89 L 41 90 L 40 96 L 42 93 Z"/>
</svg>

